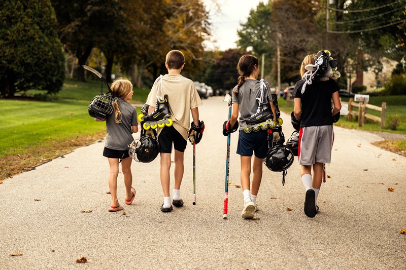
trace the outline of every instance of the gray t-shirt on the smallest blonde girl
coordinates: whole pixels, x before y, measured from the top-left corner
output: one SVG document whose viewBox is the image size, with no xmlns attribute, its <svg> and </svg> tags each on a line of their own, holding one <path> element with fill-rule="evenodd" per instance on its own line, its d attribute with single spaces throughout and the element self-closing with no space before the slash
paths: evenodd
<svg viewBox="0 0 406 270">
<path fill-rule="evenodd" d="M 107 136 L 105 146 L 114 150 L 125 150 L 133 141 L 131 126 L 137 126 L 137 109 L 124 99 L 119 98 L 118 104 L 122 113 L 121 123 L 114 122 L 113 113 L 106 118 Z"/>
</svg>

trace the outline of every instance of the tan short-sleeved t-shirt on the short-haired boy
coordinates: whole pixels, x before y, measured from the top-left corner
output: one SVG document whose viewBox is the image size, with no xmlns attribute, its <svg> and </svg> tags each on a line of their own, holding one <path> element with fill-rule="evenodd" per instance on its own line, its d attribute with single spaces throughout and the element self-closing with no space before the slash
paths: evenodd
<svg viewBox="0 0 406 270">
<path fill-rule="evenodd" d="M 159 90 L 160 82 L 152 86 L 148 95 L 147 104 L 155 107 L 156 96 L 163 98 L 168 95 L 168 103 L 171 109 L 171 119 L 174 128 L 187 140 L 190 129 L 190 110 L 200 105 L 201 99 L 191 80 L 182 75 L 164 75 L 162 77 L 162 93 Z M 158 128 L 158 135 L 161 129 Z"/>
</svg>

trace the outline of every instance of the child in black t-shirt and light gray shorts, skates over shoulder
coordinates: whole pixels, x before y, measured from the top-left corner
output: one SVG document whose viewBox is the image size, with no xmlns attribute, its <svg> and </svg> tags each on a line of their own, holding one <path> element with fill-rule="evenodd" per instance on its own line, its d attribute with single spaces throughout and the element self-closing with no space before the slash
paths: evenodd
<svg viewBox="0 0 406 270">
<path fill-rule="evenodd" d="M 314 65 L 316 57 L 304 57 L 300 67 L 302 78 L 307 71 L 305 66 Z M 303 87 L 305 83 L 307 85 Z M 313 82 L 303 78 L 293 90 L 294 111 L 291 116 L 292 123 L 296 123 L 294 128 L 299 129 L 298 158 L 301 180 L 306 188 L 304 213 L 308 217 L 314 217 L 319 211 L 317 197 L 322 183 L 323 164 L 330 163 L 334 140 L 332 125 L 340 117 L 339 90 L 337 83 L 328 78 L 314 78 Z M 331 99 L 334 104 L 332 109 Z"/>
</svg>

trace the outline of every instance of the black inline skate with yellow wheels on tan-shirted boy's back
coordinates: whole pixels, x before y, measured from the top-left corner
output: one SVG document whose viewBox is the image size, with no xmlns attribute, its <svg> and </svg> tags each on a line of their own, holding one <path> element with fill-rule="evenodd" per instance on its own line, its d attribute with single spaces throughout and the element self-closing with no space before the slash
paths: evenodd
<svg viewBox="0 0 406 270">
<path fill-rule="evenodd" d="M 142 126 L 145 130 L 149 130 L 150 128 L 156 129 L 157 127 L 163 128 L 164 126 L 172 126 L 173 121 L 170 118 L 171 111 L 169 109 L 168 95 L 165 95 L 163 99 L 160 99 L 159 97 L 156 99 L 155 110 L 153 112 L 147 115 L 138 115 L 138 120 L 143 123 Z M 143 109 L 141 109 L 141 112 L 145 113 L 146 110 L 144 109 L 143 111 Z"/>
</svg>

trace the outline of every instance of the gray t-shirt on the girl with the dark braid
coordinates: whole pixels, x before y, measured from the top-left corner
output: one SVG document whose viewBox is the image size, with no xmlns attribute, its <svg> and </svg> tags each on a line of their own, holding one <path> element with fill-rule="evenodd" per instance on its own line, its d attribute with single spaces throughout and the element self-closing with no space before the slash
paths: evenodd
<svg viewBox="0 0 406 270">
<path fill-rule="evenodd" d="M 263 89 L 262 102 L 273 102 L 272 95 L 270 93 L 269 84 L 265 83 Z M 240 110 L 240 129 L 244 129 L 247 126 L 247 120 L 257 112 L 258 102 L 256 98 L 261 96 L 260 82 L 258 80 L 246 79 L 244 84 L 240 87 L 238 95 L 235 96 L 234 92 L 237 90 L 237 86 L 232 90 L 232 103 L 239 103 Z"/>
</svg>

